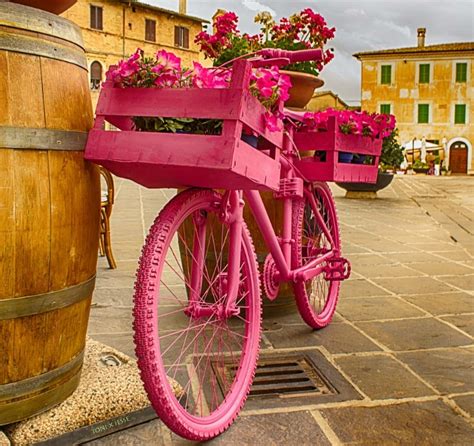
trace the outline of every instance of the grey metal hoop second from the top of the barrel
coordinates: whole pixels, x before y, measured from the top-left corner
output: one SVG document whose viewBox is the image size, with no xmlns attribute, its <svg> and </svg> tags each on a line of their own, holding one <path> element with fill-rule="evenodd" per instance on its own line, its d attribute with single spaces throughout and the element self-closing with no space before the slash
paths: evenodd
<svg viewBox="0 0 474 446">
<path fill-rule="evenodd" d="M 71 46 L 61 45 L 59 41 L 53 42 L 38 37 L 0 31 L 0 50 L 56 59 L 87 70 L 87 59 L 84 51 L 79 47 L 76 50 Z"/>
</svg>

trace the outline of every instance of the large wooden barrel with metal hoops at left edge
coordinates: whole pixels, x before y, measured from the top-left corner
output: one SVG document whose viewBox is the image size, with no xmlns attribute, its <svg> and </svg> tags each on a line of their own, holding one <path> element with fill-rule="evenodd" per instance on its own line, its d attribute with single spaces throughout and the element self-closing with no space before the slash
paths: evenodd
<svg viewBox="0 0 474 446">
<path fill-rule="evenodd" d="M 0 3 L 0 425 L 77 387 L 97 261 L 100 186 L 80 30 Z"/>
</svg>

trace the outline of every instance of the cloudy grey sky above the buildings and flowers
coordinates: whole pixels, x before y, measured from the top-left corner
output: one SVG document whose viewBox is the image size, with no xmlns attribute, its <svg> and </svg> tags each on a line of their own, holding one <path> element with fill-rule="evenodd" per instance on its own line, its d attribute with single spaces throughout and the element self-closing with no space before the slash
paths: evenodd
<svg viewBox="0 0 474 446">
<path fill-rule="evenodd" d="M 141 0 L 178 9 L 178 0 Z M 253 17 L 269 11 L 288 17 L 304 8 L 320 13 L 336 37 L 328 42 L 335 58 L 322 71 L 322 89 L 339 94 L 349 104 L 360 101 L 360 51 L 416 46 L 416 29 L 424 27 L 426 45 L 474 41 L 474 0 L 188 0 L 188 14 L 211 20 L 217 8 L 239 16 L 242 32 L 256 34 Z"/>
</svg>

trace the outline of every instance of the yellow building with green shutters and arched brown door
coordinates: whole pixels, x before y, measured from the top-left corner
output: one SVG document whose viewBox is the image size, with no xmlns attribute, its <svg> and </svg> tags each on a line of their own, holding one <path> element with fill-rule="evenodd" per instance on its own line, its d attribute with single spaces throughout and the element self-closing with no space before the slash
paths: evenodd
<svg viewBox="0 0 474 446">
<path fill-rule="evenodd" d="M 402 144 L 431 142 L 452 173 L 474 173 L 474 42 L 354 54 L 361 61 L 361 106 L 397 118 Z"/>
</svg>

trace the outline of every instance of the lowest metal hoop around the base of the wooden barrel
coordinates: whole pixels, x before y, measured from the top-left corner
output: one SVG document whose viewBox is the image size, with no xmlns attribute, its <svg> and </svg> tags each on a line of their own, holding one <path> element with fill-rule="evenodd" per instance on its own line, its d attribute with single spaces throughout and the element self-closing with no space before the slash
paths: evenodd
<svg viewBox="0 0 474 446">
<path fill-rule="evenodd" d="M 84 350 L 78 353 L 66 364 L 21 381 L 15 381 L 0 385 L 0 402 L 6 401 L 7 404 L 34 396 L 39 392 L 45 392 L 51 387 L 56 387 L 71 375 L 75 375 L 81 369 L 84 359 Z M 8 406 L 7 406 L 8 407 Z"/>
</svg>

